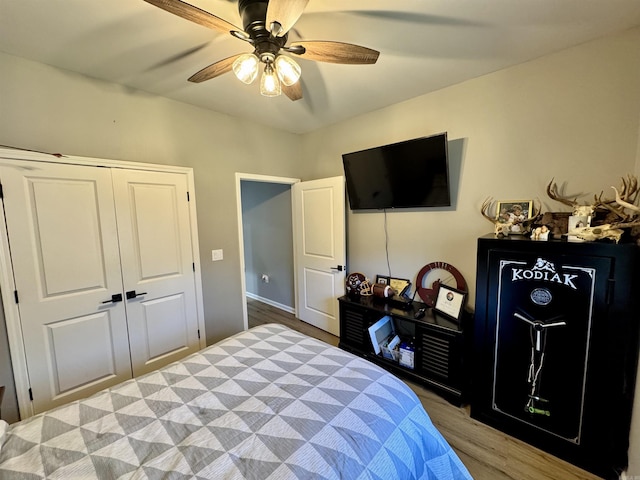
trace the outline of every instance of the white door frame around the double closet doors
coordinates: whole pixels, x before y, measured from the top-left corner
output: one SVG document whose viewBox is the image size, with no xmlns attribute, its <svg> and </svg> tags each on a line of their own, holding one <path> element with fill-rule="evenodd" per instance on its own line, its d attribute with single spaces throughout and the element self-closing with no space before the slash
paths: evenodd
<svg viewBox="0 0 640 480">
<path fill-rule="evenodd" d="M 67 156 L 60 154 L 47 154 L 28 150 L 0 148 L 0 163 L 11 164 L 12 160 L 28 160 L 32 162 L 47 162 L 68 165 L 85 165 L 92 167 L 125 168 L 128 170 L 152 170 L 156 172 L 181 173 L 187 176 L 187 185 L 190 192 L 195 192 L 193 169 L 173 165 L 159 165 L 153 163 L 128 162 L 124 160 L 108 160 L 91 157 Z M 196 283 L 196 312 L 198 316 L 198 328 L 200 329 L 200 348 L 206 346 L 204 301 L 202 292 L 202 275 L 200 269 L 200 249 L 198 244 L 198 223 L 196 217 L 195 194 L 189 198 L 189 221 L 191 224 L 191 248 L 193 261 L 198 268 L 194 272 Z M 15 282 L 13 278 L 13 266 L 11 252 L 9 250 L 9 237 L 5 227 L 6 219 L 4 209 L 0 209 L 0 294 L 2 297 L 5 323 L 7 325 L 7 337 L 11 354 L 13 379 L 16 387 L 18 410 L 20 418 L 24 419 L 34 414 L 33 405 L 29 396 L 30 382 L 27 368 L 27 359 L 22 342 L 22 326 L 20 312 L 15 301 Z"/>
</svg>

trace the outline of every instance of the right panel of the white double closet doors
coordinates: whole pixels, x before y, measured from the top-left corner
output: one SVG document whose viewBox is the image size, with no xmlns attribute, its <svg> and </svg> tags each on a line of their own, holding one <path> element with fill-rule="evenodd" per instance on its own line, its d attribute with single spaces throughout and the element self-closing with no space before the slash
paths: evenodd
<svg viewBox="0 0 640 480">
<path fill-rule="evenodd" d="M 187 176 L 113 171 L 133 375 L 199 349 Z"/>
</svg>

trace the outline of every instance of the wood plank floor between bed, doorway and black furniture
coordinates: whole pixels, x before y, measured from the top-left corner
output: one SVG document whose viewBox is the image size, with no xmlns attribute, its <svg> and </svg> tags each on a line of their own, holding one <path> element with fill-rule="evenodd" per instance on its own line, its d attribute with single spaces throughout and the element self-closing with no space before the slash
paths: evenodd
<svg viewBox="0 0 640 480">
<path fill-rule="evenodd" d="M 294 330 L 338 345 L 338 337 L 257 300 L 248 300 L 249 327 L 281 323 Z M 542 450 L 506 435 L 469 416 L 468 407 L 456 407 L 420 385 L 406 382 L 420 398 L 431 420 L 456 451 L 475 480 L 597 480 Z"/>
</svg>

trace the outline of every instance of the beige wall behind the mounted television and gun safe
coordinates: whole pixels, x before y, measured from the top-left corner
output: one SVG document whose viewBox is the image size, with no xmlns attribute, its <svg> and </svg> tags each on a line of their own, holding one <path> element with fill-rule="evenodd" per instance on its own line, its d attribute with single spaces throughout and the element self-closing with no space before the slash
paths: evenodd
<svg viewBox="0 0 640 480">
<path fill-rule="evenodd" d="M 463 145 L 452 158 L 455 209 L 389 212 L 389 260 L 394 276 L 414 281 L 431 261 L 452 263 L 473 304 L 476 238 L 492 231 L 479 213 L 486 197 L 540 198 L 544 211 L 562 211 L 545 193 L 553 177 L 567 193 L 610 195 L 621 176 L 640 173 L 639 45 L 636 28 L 306 135 L 308 176 L 339 175 L 345 152 L 447 131 L 456 155 Z M 348 222 L 349 270 L 386 273 L 384 215 Z M 640 476 L 637 391 L 629 473 Z"/>
</svg>

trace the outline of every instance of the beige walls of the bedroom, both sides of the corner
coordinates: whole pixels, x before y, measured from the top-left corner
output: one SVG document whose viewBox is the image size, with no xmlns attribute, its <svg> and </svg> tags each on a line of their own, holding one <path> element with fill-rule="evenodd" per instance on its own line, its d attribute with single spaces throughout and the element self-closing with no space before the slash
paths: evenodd
<svg viewBox="0 0 640 480">
<path fill-rule="evenodd" d="M 411 279 L 428 262 L 448 261 L 473 302 L 476 238 L 491 231 L 479 214 L 487 196 L 540 198 L 545 210 L 562 210 L 544 193 L 552 177 L 578 194 L 640 173 L 638 45 L 640 28 L 302 137 L 0 54 L 0 144 L 193 167 L 211 342 L 242 328 L 234 172 L 341 175 L 342 153 L 447 131 L 455 207 L 389 213 L 389 260 L 394 276 Z M 350 269 L 385 273 L 383 214 L 348 221 Z M 209 261 L 214 248 L 224 261 Z M 639 405 L 636 396 L 636 412 Z"/>
</svg>

